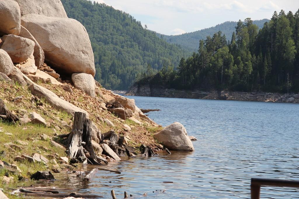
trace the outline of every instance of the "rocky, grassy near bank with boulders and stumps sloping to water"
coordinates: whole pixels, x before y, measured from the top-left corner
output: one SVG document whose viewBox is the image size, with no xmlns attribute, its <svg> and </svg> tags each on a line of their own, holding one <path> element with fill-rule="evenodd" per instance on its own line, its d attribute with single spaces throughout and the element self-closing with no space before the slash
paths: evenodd
<svg viewBox="0 0 299 199">
<path fill-rule="evenodd" d="M 163 129 L 94 80 L 88 33 L 59 0 L 0 1 L 0 18 L 1 199 L 98 198 L 35 185 L 59 172 L 89 181 L 121 157 L 194 150 L 183 125 Z"/>
</svg>

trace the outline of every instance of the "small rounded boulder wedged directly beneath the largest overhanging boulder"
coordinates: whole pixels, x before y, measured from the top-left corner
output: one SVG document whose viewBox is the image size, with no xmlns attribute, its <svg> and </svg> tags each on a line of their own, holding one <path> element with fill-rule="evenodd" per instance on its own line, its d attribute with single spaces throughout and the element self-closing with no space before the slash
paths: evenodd
<svg viewBox="0 0 299 199">
<path fill-rule="evenodd" d="M 73 73 L 72 81 L 75 88 L 83 90 L 87 95 L 95 97 L 95 82 L 92 75 L 82 72 Z"/>
</svg>

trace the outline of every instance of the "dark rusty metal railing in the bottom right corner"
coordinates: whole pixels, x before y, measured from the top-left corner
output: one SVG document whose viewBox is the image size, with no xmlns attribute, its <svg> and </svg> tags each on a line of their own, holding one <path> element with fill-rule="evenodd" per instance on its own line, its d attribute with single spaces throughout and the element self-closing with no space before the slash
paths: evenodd
<svg viewBox="0 0 299 199">
<path fill-rule="evenodd" d="M 251 178 L 251 199 L 260 199 L 261 186 L 280 186 L 299 188 L 299 181 L 271 178 Z"/>
</svg>

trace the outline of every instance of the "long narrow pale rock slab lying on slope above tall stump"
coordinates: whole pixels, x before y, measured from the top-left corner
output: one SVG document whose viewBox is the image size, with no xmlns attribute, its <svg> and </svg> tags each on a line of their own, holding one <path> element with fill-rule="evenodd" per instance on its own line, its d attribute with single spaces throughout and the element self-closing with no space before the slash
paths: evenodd
<svg viewBox="0 0 299 199">
<path fill-rule="evenodd" d="M 85 110 L 80 109 L 74 104 L 71 104 L 59 98 L 54 92 L 33 83 L 30 79 L 28 80 L 28 77 L 26 77 L 26 75 L 24 75 L 23 77 L 25 78 L 25 81 L 28 81 L 31 84 L 30 86 L 28 86 L 31 93 L 39 98 L 44 98 L 46 102 L 51 104 L 55 109 L 65 111 L 72 116 L 75 115 L 75 112 L 84 112 L 88 117 L 88 113 Z"/>
</svg>

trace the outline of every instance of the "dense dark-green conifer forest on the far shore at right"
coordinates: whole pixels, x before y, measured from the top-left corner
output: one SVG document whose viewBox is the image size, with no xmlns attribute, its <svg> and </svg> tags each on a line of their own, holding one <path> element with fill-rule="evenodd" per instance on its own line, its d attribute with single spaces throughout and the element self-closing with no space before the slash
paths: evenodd
<svg viewBox="0 0 299 199">
<path fill-rule="evenodd" d="M 239 20 L 230 41 L 220 31 L 199 41 L 197 53 L 181 58 L 177 70 L 164 62 L 148 68 L 137 84 L 175 89 L 299 92 L 299 10 L 274 12 L 260 31 Z"/>
</svg>

